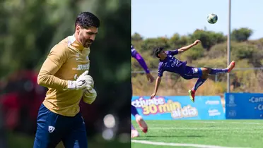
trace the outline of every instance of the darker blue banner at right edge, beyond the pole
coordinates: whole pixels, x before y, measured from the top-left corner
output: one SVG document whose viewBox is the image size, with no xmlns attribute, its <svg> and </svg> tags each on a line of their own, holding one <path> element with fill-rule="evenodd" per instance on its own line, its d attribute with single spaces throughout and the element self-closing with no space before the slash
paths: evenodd
<svg viewBox="0 0 263 148">
<path fill-rule="evenodd" d="M 263 94 L 226 93 L 226 119 L 263 119 Z"/>
</svg>

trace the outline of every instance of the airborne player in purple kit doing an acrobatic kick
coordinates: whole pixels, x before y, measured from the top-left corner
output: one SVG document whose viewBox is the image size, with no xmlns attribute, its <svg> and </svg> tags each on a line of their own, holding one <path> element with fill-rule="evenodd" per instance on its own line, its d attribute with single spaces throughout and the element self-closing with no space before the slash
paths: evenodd
<svg viewBox="0 0 263 148">
<path fill-rule="evenodd" d="M 209 75 L 217 75 L 218 73 L 230 73 L 230 71 L 235 67 L 235 61 L 232 61 L 227 68 L 217 69 L 217 68 L 194 68 L 187 66 L 187 61 L 180 61 L 174 56 L 181 54 L 188 49 L 197 45 L 200 41 L 196 40 L 193 44 L 190 44 L 186 47 L 176 49 L 173 51 L 164 51 L 163 47 L 157 47 L 155 49 L 156 57 L 160 59 L 158 66 L 158 78 L 156 79 L 156 87 L 151 95 L 151 99 L 156 96 L 160 81 L 162 80 L 163 72 L 168 71 L 172 73 L 177 73 L 182 76 L 182 78 L 189 80 L 192 78 L 198 78 L 192 90 L 189 90 L 189 97 L 194 102 L 194 95 L 198 87 L 200 87 Z"/>
</svg>

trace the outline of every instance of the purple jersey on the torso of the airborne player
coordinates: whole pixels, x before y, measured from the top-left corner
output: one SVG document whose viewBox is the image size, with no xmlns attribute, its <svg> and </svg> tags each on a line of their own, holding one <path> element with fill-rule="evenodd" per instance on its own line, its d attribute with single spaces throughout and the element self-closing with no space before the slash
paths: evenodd
<svg viewBox="0 0 263 148">
<path fill-rule="evenodd" d="M 185 70 L 187 62 L 180 61 L 174 57 L 174 55 L 178 54 L 178 50 L 165 51 L 165 53 L 167 54 L 167 57 L 163 61 L 160 60 L 159 62 L 158 77 L 162 77 L 163 72 L 165 71 L 182 74 Z"/>
</svg>

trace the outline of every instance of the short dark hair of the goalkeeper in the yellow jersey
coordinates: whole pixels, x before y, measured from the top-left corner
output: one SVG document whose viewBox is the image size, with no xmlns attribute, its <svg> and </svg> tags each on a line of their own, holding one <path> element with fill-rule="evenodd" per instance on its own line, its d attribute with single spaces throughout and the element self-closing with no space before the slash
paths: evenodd
<svg viewBox="0 0 263 148">
<path fill-rule="evenodd" d="M 76 25 L 80 25 L 83 28 L 88 27 L 100 27 L 100 19 L 95 16 L 93 13 L 90 12 L 82 12 L 78 14 L 78 17 L 75 21 L 75 27 Z"/>
</svg>

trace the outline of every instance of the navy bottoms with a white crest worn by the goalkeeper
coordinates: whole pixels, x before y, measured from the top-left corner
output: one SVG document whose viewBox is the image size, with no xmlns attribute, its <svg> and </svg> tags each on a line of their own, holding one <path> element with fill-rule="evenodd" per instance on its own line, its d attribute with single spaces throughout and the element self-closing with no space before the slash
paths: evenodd
<svg viewBox="0 0 263 148">
<path fill-rule="evenodd" d="M 49 111 L 41 104 L 37 116 L 34 148 L 55 148 L 61 141 L 65 148 L 88 147 L 86 127 L 81 113 L 74 117 L 62 116 Z"/>
</svg>

